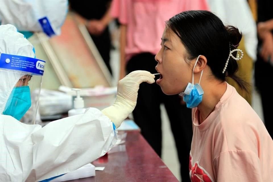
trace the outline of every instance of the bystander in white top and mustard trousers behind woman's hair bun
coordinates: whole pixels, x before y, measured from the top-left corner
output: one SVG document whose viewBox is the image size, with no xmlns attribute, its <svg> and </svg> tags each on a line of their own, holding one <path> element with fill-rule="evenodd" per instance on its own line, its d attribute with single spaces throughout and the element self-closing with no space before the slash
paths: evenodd
<svg viewBox="0 0 273 182">
<path fill-rule="evenodd" d="M 210 10 L 222 19 L 224 24 L 237 27 L 243 33 L 243 38 L 239 43 L 238 49 L 244 52 L 244 59 L 238 61 L 239 69 L 237 74 L 248 83 L 252 82 L 253 61 L 256 61 L 257 53 L 257 27 L 252 16 L 247 1 L 233 0 L 207 0 Z M 240 11 L 238 11 L 238 9 Z M 234 45 L 237 46 L 237 45 Z M 240 89 L 235 80 L 228 78 L 228 83 L 234 86 L 237 92 L 251 105 L 252 87 L 249 88 L 249 94 Z"/>
</svg>

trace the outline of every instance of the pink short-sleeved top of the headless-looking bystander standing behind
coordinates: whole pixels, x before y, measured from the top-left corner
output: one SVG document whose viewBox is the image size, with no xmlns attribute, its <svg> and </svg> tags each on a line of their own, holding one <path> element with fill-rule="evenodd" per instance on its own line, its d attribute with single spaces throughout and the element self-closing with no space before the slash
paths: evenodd
<svg viewBox="0 0 273 182">
<path fill-rule="evenodd" d="M 187 10 L 208 10 L 206 0 L 113 0 L 111 16 L 127 25 L 126 61 L 138 53 L 160 50 L 165 21 Z"/>
</svg>

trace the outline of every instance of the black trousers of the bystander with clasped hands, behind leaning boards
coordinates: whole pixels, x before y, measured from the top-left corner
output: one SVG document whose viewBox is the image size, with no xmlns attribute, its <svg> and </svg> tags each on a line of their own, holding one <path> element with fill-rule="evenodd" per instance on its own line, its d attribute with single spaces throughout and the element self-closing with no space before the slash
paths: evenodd
<svg viewBox="0 0 273 182">
<path fill-rule="evenodd" d="M 110 67 L 111 36 L 108 26 L 105 28 L 102 34 L 98 36 L 90 34 L 90 36 L 94 41 L 94 44 L 96 45 L 98 51 L 100 52 L 100 55 L 102 56 L 104 63 L 106 64 L 108 70 L 112 75 L 112 69 Z"/>
</svg>

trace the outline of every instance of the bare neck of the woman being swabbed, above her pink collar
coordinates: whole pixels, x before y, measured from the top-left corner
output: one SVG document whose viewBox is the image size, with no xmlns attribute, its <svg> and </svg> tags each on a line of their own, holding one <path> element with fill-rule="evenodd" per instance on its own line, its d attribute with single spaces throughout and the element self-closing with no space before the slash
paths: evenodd
<svg viewBox="0 0 273 182">
<path fill-rule="evenodd" d="M 201 83 L 204 90 L 202 102 L 197 106 L 200 111 L 199 124 L 201 124 L 214 110 L 216 104 L 220 101 L 227 90 L 227 83 L 219 80 L 205 81 Z"/>
</svg>

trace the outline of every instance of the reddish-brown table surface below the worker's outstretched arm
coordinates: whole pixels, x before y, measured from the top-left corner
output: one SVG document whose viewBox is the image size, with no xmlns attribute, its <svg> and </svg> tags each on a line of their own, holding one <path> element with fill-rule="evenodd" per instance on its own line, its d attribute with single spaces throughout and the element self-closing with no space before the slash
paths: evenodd
<svg viewBox="0 0 273 182">
<path fill-rule="evenodd" d="M 105 167 L 96 171 L 95 177 L 69 182 L 178 182 L 138 131 L 127 132 L 125 144 L 117 147 L 111 149 L 116 152 L 93 162 L 96 167 Z"/>
</svg>

